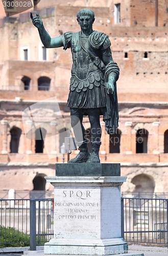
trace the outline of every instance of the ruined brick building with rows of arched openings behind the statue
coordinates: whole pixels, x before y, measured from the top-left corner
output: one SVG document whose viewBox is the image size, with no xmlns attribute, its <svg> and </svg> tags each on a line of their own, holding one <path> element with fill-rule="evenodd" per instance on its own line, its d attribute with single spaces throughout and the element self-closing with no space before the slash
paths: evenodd
<svg viewBox="0 0 168 256">
<path fill-rule="evenodd" d="M 13 0 L 14 1 L 14 0 Z M 46 197 L 53 186 L 64 137 L 71 133 L 66 106 L 71 69 L 70 50 L 46 49 L 32 25 L 30 11 L 39 13 L 49 34 L 79 31 L 76 13 L 95 13 L 93 29 L 106 33 L 117 81 L 119 126 L 108 135 L 102 124 L 102 163 L 121 163 L 122 186 L 129 196 L 168 194 L 168 4 L 166 0 L 41 0 L 18 13 L 0 2 L 0 186 L 16 196 Z M 46 3 L 47 2 L 47 3 Z M 89 120 L 84 126 L 89 138 Z M 42 134 L 42 139 L 41 139 Z M 73 158 L 78 151 L 72 151 Z M 48 194 L 47 194 L 48 193 Z"/>
</svg>

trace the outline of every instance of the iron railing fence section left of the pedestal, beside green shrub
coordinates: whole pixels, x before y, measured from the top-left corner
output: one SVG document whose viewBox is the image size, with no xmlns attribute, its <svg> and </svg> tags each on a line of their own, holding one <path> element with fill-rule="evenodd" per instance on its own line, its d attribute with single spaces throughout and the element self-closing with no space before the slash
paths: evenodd
<svg viewBox="0 0 168 256">
<path fill-rule="evenodd" d="M 54 233 L 53 202 L 53 199 L 0 200 L 0 247 L 30 246 L 34 232 L 36 245 L 50 241 Z"/>
</svg>

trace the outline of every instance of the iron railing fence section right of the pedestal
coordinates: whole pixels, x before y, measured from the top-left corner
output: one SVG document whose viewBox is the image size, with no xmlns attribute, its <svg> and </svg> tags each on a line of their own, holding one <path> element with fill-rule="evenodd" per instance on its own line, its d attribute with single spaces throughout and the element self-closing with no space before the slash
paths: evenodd
<svg viewBox="0 0 168 256">
<path fill-rule="evenodd" d="M 168 200 L 122 198 L 122 209 L 127 242 L 167 244 Z"/>
</svg>

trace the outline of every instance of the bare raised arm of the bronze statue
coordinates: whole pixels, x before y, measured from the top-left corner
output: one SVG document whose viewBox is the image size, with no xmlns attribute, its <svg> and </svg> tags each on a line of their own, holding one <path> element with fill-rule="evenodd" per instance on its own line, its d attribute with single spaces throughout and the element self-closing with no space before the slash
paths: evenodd
<svg viewBox="0 0 168 256">
<path fill-rule="evenodd" d="M 42 19 L 38 13 L 36 13 L 36 16 L 33 17 L 31 12 L 30 17 L 32 19 L 33 25 L 38 28 L 40 39 L 46 48 L 58 48 L 63 46 L 62 38 L 60 36 L 51 38 L 49 33 L 45 30 Z"/>
</svg>

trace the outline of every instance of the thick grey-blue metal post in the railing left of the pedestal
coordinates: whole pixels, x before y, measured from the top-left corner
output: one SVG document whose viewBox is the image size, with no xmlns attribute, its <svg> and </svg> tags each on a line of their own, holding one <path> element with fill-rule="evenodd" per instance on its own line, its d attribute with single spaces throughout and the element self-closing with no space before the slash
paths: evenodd
<svg viewBox="0 0 168 256">
<path fill-rule="evenodd" d="M 30 200 L 30 250 L 36 251 L 36 200 Z"/>
</svg>

